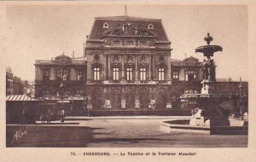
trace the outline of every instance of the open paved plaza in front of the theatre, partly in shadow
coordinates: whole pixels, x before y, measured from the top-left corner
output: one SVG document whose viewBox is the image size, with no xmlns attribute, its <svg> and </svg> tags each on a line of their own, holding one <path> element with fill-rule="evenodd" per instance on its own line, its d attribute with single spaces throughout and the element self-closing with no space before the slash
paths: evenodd
<svg viewBox="0 0 256 162">
<path fill-rule="evenodd" d="M 160 131 L 162 121 L 175 117 L 67 118 L 64 124 L 8 125 L 8 147 L 91 148 L 243 148 L 247 136 L 217 136 Z M 186 119 L 187 117 L 183 117 Z M 16 126 L 16 128 L 15 128 Z M 26 135 L 10 144 L 15 130 Z"/>
</svg>

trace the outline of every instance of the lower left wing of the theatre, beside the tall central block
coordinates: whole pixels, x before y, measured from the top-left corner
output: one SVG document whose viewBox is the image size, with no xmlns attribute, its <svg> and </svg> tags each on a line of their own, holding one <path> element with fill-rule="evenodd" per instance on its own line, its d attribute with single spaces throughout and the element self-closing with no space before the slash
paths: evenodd
<svg viewBox="0 0 256 162">
<path fill-rule="evenodd" d="M 58 98 L 82 95 L 86 84 L 86 60 L 59 55 L 55 60 L 36 61 L 35 96 Z M 65 87 L 61 94 L 61 84 Z"/>
</svg>

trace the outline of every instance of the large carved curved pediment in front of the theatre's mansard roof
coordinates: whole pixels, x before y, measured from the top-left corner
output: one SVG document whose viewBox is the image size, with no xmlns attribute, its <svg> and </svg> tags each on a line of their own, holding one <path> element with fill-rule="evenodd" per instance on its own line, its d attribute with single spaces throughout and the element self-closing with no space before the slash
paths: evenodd
<svg viewBox="0 0 256 162">
<path fill-rule="evenodd" d="M 107 31 L 102 32 L 102 37 L 105 36 L 156 37 L 157 34 L 152 30 L 148 30 L 147 28 L 143 28 L 128 22 L 113 28 L 109 28 Z"/>
</svg>

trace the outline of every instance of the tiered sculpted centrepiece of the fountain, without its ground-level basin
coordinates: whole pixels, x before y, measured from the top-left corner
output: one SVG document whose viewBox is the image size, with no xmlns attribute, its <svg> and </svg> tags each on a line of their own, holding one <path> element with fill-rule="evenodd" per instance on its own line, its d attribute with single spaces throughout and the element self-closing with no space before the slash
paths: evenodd
<svg viewBox="0 0 256 162">
<path fill-rule="evenodd" d="M 224 95 L 216 93 L 215 63 L 212 59 L 215 52 L 222 51 L 222 47 L 211 45 L 213 38 L 210 33 L 204 38 L 207 45 L 195 49 L 196 53 L 202 53 L 206 58 L 203 61 L 201 82 L 201 94 L 184 94 L 182 99 L 196 101 L 197 107 L 192 111 L 190 125 L 197 126 L 229 126 L 228 114 L 219 106 Z"/>
</svg>

